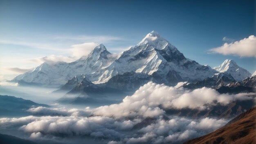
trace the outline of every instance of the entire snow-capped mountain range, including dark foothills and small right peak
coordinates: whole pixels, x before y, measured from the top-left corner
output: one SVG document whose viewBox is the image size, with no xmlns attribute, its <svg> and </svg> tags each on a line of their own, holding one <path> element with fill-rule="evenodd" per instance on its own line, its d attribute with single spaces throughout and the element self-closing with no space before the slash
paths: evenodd
<svg viewBox="0 0 256 144">
<path fill-rule="evenodd" d="M 76 103 L 90 96 L 126 95 L 150 81 L 168 86 L 189 82 L 184 85 L 185 88 L 205 86 L 222 92 L 230 88 L 237 90 L 238 85 L 243 87 L 241 89 L 249 87 L 253 90 L 255 80 L 247 80 L 249 84 L 243 81 L 251 77 L 252 74 L 234 60 L 225 60 L 213 69 L 208 65 L 200 65 L 185 58 L 175 46 L 152 31 L 137 45 L 118 56 L 99 44 L 89 55 L 79 60 L 71 63 L 43 63 L 11 81 L 21 85 L 60 86 L 58 91 L 67 92 L 61 102 Z"/>
</svg>

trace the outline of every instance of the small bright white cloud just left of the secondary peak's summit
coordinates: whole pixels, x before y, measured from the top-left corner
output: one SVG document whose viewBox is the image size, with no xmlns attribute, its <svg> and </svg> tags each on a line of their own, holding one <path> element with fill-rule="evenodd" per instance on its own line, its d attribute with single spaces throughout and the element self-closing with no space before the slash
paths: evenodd
<svg viewBox="0 0 256 144">
<path fill-rule="evenodd" d="M 98 44 L 94 42 L 85 42 L 83 44 L 74 44 L 71 49 L 72 56 L 75 58 L 81 58 L 84 55 L 88 55 Z"/>
</svg>

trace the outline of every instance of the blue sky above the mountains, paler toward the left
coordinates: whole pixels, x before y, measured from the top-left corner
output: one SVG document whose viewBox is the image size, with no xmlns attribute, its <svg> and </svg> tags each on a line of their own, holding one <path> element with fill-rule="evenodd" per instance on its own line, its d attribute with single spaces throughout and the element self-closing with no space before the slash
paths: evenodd
<svg viewBox="0 0 256 144">
<path fill-rule="evenodd" d="M 18 75 L 6 69 L 30 69 L 43 56 L 70 56 L 72 46 L 85 42 L 119 53 L 153 30 L 200 64 L 234 59 L 253 73 L 255 57 L 209 49 L 256 35 L 255 6 L 254 0 L 0 0 L 0 75 Z"/>
</svg>

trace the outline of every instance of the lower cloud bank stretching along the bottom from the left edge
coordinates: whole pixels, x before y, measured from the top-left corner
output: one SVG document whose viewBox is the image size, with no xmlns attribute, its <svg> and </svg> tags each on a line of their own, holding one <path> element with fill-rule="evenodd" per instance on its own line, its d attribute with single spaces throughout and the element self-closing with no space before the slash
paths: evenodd
<svg viewBox="0 0 256 144">
<path fill-rule="evenodd" d="M 227 120 L 209 118 L 190 120 L 182 117 L 171 117 L 170 120 L 158 119 L 155 123 L 130 133 L 131 128 L 136 123 L 135 121 L 115 120 L 101 116 L 0 118 L 1 129 L 18 127 L 20 131 L 30 134 L 31 139 L 88 136 L 96 139 L 103 138 L 108 144 L 181 143 L 214 131 L 226 124 Z"/>
</svg>

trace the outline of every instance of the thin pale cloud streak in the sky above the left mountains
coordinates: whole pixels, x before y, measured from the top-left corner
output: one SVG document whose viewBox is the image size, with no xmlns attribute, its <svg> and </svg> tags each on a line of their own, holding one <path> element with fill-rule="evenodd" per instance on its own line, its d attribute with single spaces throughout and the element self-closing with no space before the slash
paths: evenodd
<svg viewBox="0 0 256 144">
<path fill-rule="evenodd" d="M 110 43 L 125 40 L 115 36 L 99 35 L 43 35 L 37 38 L 0 38 L 0 44 L 15 44 L 36 49 L 63 51 L 78 43 Z"/>
</svg>

